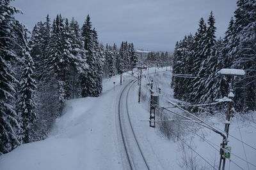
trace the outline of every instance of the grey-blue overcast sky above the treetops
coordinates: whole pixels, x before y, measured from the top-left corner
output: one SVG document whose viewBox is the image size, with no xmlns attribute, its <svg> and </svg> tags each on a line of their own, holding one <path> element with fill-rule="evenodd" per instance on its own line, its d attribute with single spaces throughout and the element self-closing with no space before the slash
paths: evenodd
<svg viewBox="0 0 256 170">
<path fill-rule="evenodd" d="M 36 22 L 58 13 L 74 17 L 80 25 L 90 14 L 100 42 L 134 43 L 136 48 L 173 51 L 175 42 L 195 33 L 201 17 L 211 10 L 216 18 L 217 37 L 223 37 L 236 10 L 236 0 L 16 0 L 24 14 L 17 15 L 32 29 Z"/>
</svg>

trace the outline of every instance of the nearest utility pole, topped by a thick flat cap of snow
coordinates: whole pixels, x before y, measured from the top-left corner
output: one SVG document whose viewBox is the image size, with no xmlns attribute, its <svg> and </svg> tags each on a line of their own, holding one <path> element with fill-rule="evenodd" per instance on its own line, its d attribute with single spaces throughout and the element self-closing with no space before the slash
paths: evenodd
<svg viewBox="0 0 256 170">
<path fill-rule="evenodd" d="M 222 164 L 222 170 L 225 170 L 225 162 L 226 159 L 230 159 L 230 153 L 228 154 L 227 150 L 229 148 L 229 152 L 231 152 L 230 147 L 227 147 L 228 144 L 228 131 L 230 126 L 230 119 L 232 117 L 232 107 L 233 107 L 233 99 L 235 97 L 234 95 L 234 79 L 235 76 L 243 76 L 245 74 L 244 70 L 242 69 L 221 69 L 219 72 L 221 75 L 225 76 L 231 76 L 231 82 L 230 82 L 230 90 L 228 93 L 228 98 L 230 101 L 228 101 L 228 107 L 227 107 L 227 115 L 226 115 L 226 121 L 225 121 L 225 132 L 227 134 L 226 138 L 223 137 L 223 141 L 221 143 L 221 150 L 220 150 L 220 164 L 219 164 L 219 170 L 221 170 L 221 163 Z M 226 155 L 229 155 L 227 157 Z"/>
</svg>

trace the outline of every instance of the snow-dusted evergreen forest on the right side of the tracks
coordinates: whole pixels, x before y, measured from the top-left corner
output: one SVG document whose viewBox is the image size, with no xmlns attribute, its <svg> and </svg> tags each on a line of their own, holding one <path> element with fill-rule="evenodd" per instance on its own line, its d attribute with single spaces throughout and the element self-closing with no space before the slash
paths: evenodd
<svg viewBox="0 0 256 170">
<path fill-rule="evenodd" d="M 236 78 L 234 106 L 239 111 L 256 110 L 256 2 L 237 1 L 224 38 L 216 39 L 215 19 L 211 12 L 205 24 L 199 21 L 195 35 L 177 42 L 173 55 L 174 95 L 191 104 L 212 103 L 227 96 L 228 82 L 220 77 L 222 68 L 244 69 Z"/>
</svg>

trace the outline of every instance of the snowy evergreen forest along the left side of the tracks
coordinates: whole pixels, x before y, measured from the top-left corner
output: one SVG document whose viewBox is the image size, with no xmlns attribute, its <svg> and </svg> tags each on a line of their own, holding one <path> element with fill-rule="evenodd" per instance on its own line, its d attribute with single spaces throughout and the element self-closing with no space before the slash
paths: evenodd
<svg viewBox="0 0 256 170">
<path fill-rule="evenodd" d="M 89 15 L 82 27 L 47 15 L 29 32 L 16 13 L 0 0 L 0 155 L 46 138 L 66 100 L 98 97 L 104 76 L 138 62 L 132 43 L 100 44 Z"/>
</svg>

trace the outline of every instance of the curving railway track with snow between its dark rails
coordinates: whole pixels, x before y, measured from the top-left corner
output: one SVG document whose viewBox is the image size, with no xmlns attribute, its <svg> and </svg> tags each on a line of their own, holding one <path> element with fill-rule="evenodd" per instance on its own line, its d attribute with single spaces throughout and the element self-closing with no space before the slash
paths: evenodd
<svg viewBox="0 0 256 170">
<path fill-rule="evenodd" d="M 128 110 L 128 94 L 136 81 L 130 81 L 122 90 L 118 102 L 118 120 L 125 155 L 129 163 L 129 169 L 150 169 L 145 156 L 141 152 L 140 145 L 132 128 Z M 128 88 L 129 87 L 129 88 Z"/>
</svg>

